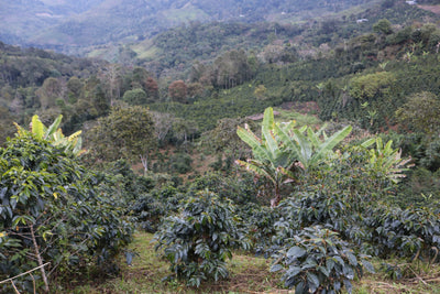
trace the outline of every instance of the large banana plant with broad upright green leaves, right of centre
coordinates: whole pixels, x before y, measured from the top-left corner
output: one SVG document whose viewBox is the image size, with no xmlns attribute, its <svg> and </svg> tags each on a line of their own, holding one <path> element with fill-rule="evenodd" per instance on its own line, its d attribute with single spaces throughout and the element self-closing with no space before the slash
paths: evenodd
<svg viewBox="0 0 440 294">
<path fill-rule="evenodd" d="M 267 108 L 264 111 L 261 139 L 248 126 L 238 128 L 238 135 L 251 146 L 254 159 L 246 162 L 239 160 L 237 163 L 271 181 L 275 193 L 271 205 L 274 207 L 282 199 L 282 185 L 293 182 L 299 170 L 307 172 L 309 167 L 321 163 L 350 132 L 349 126 L 328 138 L 323 128 L 314 132 L 307 126 L 296 129 L 295 121 L 275 123 L 273 109 Z"/>
</svg>

